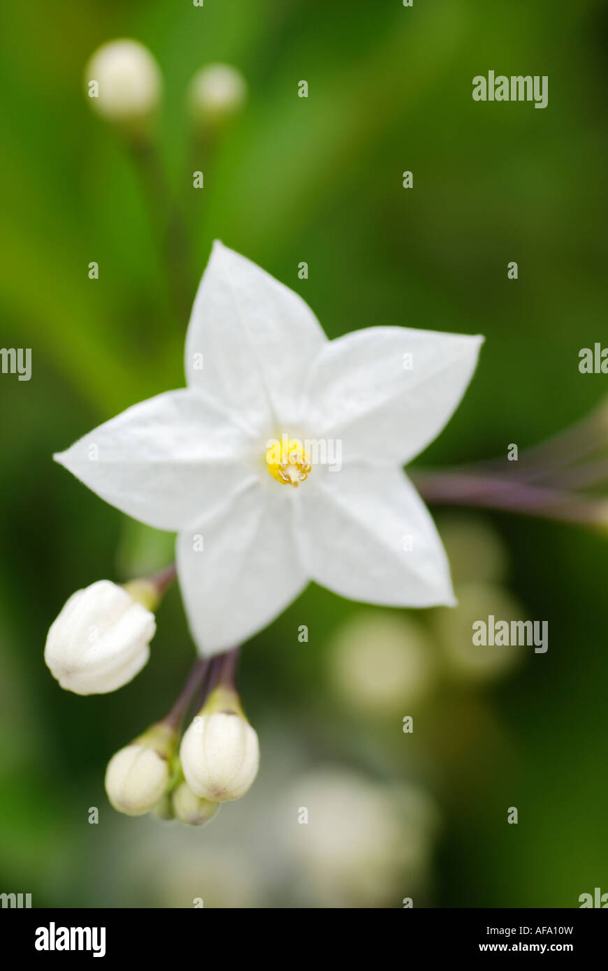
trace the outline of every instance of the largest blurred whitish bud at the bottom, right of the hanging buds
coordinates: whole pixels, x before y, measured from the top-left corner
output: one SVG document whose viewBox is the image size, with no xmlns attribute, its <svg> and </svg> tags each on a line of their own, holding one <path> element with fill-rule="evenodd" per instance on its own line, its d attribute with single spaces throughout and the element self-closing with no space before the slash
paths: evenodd
<svg viewBox="0 0 608 971">
<path fill-rule="evenodd" d="M 407 788 L 336 767 L 304 776 L 291 790 L 282 807 L 287 849 L 323 906 L 398 906 L 406 891 L 422 892 L 437 811 L 420 790 L 408 803 Z M 306 825 L 298 825 L 297 807 L 306 807 Z"/>
</svg>

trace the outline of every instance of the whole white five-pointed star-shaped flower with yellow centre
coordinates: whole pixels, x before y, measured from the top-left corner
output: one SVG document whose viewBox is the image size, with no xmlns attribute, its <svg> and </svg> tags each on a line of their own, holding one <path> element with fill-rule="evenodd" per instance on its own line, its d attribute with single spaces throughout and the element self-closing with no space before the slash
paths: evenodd
<svg viewBox="0 0 608 971">
<path fill-rule="evenodd" d="M 310 580 L 375 604 L 452 605 L 446 554 L 402 465 L 451 418 L 482 340 L 376 326 L 328 341 L 296 293 L 216 243 L 187 387 L 55 458 L 123 513 L 179 533 L 200 653 L 252 637 Z"/>
</svg>

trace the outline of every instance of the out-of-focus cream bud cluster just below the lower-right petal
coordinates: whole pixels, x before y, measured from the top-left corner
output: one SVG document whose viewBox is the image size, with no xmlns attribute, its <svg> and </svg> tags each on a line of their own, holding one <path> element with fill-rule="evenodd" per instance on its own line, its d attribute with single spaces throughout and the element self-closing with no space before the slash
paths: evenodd
<svg viewBox="0 0 608 971">
<path fill-rule="evenodd" d="M 331 636 L 328 678 L 335 696 L 355 711 L 378 720 L 410 714 L 431 701 L 442 681 L 481 684 L 507 674 L 524 656 L 517 645 L 477 645 L 473 639 L 476 621 L 527 618 L 505 586 L 508 555 L 499 535 L 468 515 L 440 519 L 439 531 L 456 607 L 425 617 L 358 610 Z"/>
</svg>

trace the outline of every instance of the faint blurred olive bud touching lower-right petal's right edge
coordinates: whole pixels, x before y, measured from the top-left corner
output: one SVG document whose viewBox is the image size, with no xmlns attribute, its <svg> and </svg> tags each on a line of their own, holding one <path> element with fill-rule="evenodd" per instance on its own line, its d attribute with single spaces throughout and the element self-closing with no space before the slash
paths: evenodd
<svg viewBox="0 0 608 971">
<path fill-rule="evenodd" d="M 437 528 L 450 560 L 455 586 L 481 580 L 501 583 L 508 573 L 509 555 L 486 519 L 470 514 L 444 514 Z"/>
</svg>

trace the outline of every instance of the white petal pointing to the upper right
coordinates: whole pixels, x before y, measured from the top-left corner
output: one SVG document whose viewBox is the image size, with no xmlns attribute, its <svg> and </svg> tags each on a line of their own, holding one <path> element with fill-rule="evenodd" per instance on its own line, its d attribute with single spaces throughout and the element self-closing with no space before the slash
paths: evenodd
<svg viewBox="0 0 608 971">
<path fill-rule="evenodd" d="M 339 337 L 313 364 L 304 420 L 320 437 L 343 438 L 347 461 L 403 465 L 452 417 L 482 342 L 409 327 Z"/>
</svg>

